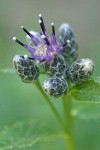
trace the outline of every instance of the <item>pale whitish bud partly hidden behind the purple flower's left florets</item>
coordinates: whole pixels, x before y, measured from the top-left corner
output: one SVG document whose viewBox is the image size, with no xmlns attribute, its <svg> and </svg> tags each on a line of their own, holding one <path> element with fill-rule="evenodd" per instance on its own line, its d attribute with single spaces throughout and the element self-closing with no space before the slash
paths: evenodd
<svg viewBox="0 0 100 150">
<path fill-rule="evenodd" d="M 22 26 L 23 27 L 23 26 Z M 38 38 L 39 40 L 41 40 L 42 38 L 41 38 L 41 36 L 40 36 L 40 33 L 38 33 L 38 32 L 35 32 L 35 31 L 30 31 L 29 33 L 31 33 L 32 35 L 34 35 L 36 38 Z M 32 42 L 32 39 L 30 38 L 30 36 L 29 35 L 26 35 L 26 41 L 27 41 L 27 43 L 30 45 L 30 46 L 35 46 L 34 44 L 33 44 L 33 42 Z"/>
</svg>

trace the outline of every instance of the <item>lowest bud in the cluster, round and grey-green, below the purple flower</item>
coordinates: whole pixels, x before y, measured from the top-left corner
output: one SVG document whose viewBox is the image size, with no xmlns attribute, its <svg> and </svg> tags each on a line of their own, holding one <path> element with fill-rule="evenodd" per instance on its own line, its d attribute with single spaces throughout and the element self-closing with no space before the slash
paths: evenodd
<svg viewBox="0 0 100 150">
<path fill-rule="evenodd" d="M 68 84 L 65 79 L 59 77 L 49 78 L 44 81 L 44 91 L 54 97 L 66 95 L 68 93 Z"/>
</svg>

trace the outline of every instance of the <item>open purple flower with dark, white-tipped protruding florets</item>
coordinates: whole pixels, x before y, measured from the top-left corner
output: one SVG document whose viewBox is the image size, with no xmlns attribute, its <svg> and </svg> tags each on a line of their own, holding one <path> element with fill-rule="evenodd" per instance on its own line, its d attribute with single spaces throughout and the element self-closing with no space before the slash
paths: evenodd
<svg viewBox="0 0 100 150">
<path fill-rule="evenodd" d="M 41 14 L 39 14 L 39 24 L 42 29 L 42 33 L 40 33 L 42 41 L 35 35 L 28 32 L 23 26 L 21 26 L 23 31 L 26 32 L 27 35 L 29 35 L 35 47 L 23 44 L 16 37 L 13 37 L 13 40 L 16 41 L 18 44 L 20 44 L 21 46 L 23 46 L 24 48 L 26 48 L 31 53 L 33 59 L 35 59 L 36 62 L 39 63 L 52 62 L 55 55 L 60 55 L 62 53 L 63 45 L 58 44 L 56 41 L 55 28 L 53 23 L 51 23 L 52 26 L 51 36 L 48 37 Z"/>
</svg>

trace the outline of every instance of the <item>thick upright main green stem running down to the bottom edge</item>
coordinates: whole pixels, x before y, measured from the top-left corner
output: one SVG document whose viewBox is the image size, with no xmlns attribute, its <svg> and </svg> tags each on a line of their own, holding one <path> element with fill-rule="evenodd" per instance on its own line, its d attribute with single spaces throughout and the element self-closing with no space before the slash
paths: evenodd
<svg viewBox="0 0 100 150">
<path fill-rule="evenodd" d="M 68 150 L 75 150 L 74 138 L 73 138 L 73 116 L 71 115 L 71 95 L 63 97 L 63 105 L 66 117 L 66 144 Z"/>
</svg>

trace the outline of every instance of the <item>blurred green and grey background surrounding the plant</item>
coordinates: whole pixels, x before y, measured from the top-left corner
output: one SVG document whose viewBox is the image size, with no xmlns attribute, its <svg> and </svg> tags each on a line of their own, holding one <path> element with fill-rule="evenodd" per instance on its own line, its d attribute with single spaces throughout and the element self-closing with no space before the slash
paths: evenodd
<svg viewBox="0 0 100 150">
<path fill-rule="evenodd" d="M 16 36 L 25 42 L 25 33 L 20 29 L 21 25 L 28 30 L 40 31 L 39 13 L 44 17 L 48 34 L 51 32 L 51 22 L 55 23 L 56 31 L 64 22 L 71 24 L 79 44 L 79 57 L 92 58 L 95 61 L 94 76 L 100 76 L 100 0 L 0 0 L 1 128 L 33 117 L 57 125 L 52 111 L 33 85 L 22 83 L 15 73 L 2 72 L 2 69 L 13 68 L 14 55 L 27 53 L 24 48 L 13 42 L 12 37 Z M 41 79 L 43 80 L 43 77 Z M 62 113 L 61 101 L 53 102 Z M 94 112 L 97 107 L 100 108 L 96 105 Z M 100 150 L 99 120 L 77 118 L 74 132 L 77 150 Z M 50 141 L 36 144 L 30 149 L 61 150 L 64 149 L 63 145 L 62 140 Z"/>
</svg>

